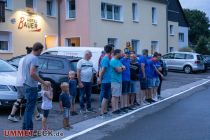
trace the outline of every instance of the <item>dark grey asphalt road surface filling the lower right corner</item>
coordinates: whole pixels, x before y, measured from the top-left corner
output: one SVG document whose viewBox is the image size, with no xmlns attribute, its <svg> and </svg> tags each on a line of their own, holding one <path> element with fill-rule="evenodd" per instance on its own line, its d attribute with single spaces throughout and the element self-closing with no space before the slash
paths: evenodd
<svg viewBox="0 0 210 140">
<path fill-rule="evenodd" d="M 103 129 L 109 130 L 107 126 L 98 132 Z M 164 110 L 126 124 L 123 129 L 110 129 L 107 135 L 103 140 L 210 140 L 210 84 Z"/>
</svg>

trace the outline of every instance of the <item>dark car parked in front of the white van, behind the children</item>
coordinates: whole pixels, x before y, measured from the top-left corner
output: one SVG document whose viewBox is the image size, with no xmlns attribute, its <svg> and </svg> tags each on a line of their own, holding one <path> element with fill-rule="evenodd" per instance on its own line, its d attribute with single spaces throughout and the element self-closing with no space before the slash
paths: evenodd
<svg viewBox="0 0 210 140">
<path fill-rule="evenodd" d="M 68 82 L 68 72 L 76 71 L 79 57 L 58 56 L 58 55 L 41 55 L 39 56 L 39 75 L 44 80 L 52 83 L 54 99 L 58 100 L 61 93 L 60 84 Z M 93 93 L 98 92 L 97 77 L 94 76 Z"/>
</svg>

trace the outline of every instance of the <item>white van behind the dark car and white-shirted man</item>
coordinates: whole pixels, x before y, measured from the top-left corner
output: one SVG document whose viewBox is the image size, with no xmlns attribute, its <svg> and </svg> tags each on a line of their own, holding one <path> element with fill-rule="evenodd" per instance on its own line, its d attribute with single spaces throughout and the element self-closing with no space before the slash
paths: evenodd
<svg viewBox="0 0 210 140">
<path fill-rule="evenodd" d="M 101 56 L 101 52 L 104 50 L 103 47 L 54 47 L 43 51 L 42 54 L 52 54 L 52 55 L 65 55 L 65 56 L 75 56 L 84 57 L 86 50 L 92 52 L 91 61 L 96 71 L 98 71 L 98 60 Z"/>
</svg>

